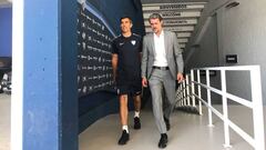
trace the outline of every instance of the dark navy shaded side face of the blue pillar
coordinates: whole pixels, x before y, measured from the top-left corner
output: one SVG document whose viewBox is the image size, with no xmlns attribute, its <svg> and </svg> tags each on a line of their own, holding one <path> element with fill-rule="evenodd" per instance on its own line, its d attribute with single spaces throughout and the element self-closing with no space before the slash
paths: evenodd
<svg viewBox="0 0 266 150">
<path fill-rule="evenodd" d="M 76 0 L 61 0 L 60 3 L 60 127 L 61 150 L 78 150 L 79 101 L 76 83 Z"/>
</svg>

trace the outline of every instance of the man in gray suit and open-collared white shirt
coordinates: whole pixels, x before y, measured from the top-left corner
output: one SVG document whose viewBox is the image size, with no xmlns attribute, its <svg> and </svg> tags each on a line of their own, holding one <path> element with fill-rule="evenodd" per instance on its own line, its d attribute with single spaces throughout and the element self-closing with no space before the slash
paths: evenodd
<svg viewBox="0 0 266 150">
<path fill-rule="evenodd" d="M 143 39 L 142 86 L 150 86 L 153 113 L 161 133 L 158 148 L 167 146 L 166 131 L 170 130 L 170 114 L 174 108 L 175 81 L 182 81 L 183 57 L 174 32 L 163 30 L 163 19 L 158 13 L 149 18 L 153 33 Z M 167 106 L 163 109 L 163 93 Z"/>
</svg>

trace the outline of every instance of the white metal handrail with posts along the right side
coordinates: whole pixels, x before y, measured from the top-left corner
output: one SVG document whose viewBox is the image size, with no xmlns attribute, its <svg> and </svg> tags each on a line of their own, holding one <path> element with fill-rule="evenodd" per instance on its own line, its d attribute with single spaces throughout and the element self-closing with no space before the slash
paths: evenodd
<svg viewBox="0 0 266 150">
<path fill-rule="evenodd" d="M 209 83 L 209 71 L 221 71 L 221 83 L 222 90 L 211 87 Z M 196 79 L 194 79 L 194 71 L 196 71 Z M 201 82 L 201 71 L 205 71 L 206 84 Z M 225 71 L 249 71 L 250 72 L 250 86 L 252 86 L 252 100 L 246 100 L 228 93 L 226 91 L 226 73 Z M 187 79 L 190 78 L 190 79 Z M 190 81 L 190 82 L 188 82 Z M 195 93 L 195 88 L 197 88 L 197 93 Z M 207 100 L 202 99 L 202 88 L 207 90 Z M 186 92 L 186 93 L 184 93 Z M 211 92 L 215 92 L 222 96 L 223 113 L 217 111 L 212 106 Z M 177 89 L 177 104 L 190 106 L 190 101 L 193 100 L 193 107 L 195 99 L 198 101 L 198 111 L 202 114 L 202 102 L 208 108 L 208 124 L 213 126 L 212 113 L 215 113 L 219 119 L 224 121 L 224 147 L 231 147 L 229 139 L 229 128 L 232 128 L 236 133 L 238 133 L 244 140 L 246 140 L 255 150 L 265 150 L 265 136 L 264 136 L 264 116 L 263 116 L 263 98 L 262 98 L 262 82 L 260 82 L 260 68 L 259 66 L 237 66 L 237 67 L 215 67 L 215 68 L 197 68 L 192 69 L 191 74 L 186 76 L 185 81 Z M 184 97 L 178 97 L 184 96 Z M 254 124 L 254 138 L 249 136 L 246 131 L 235 124 L 228 118 L 228 106 L 227 100 L 233 100 L 239 104 L 250 108 L 253 110 L 253 124 Z M 182 104 L 183 103 L 183 104 Z"/>
</svg>

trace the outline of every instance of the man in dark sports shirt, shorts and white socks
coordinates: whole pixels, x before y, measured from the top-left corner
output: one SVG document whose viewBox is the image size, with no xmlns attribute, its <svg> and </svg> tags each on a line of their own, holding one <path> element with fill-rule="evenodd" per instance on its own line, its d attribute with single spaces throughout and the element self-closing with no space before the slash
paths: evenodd
<svg viewBox="0 0 266 150">
<path fill-rule="evenodd" d="M 140 110 L 141 110 L 141 51 L 142 38 L 132 33 L 132 20 L 129 17 L 120 19 L 122 34 L 113 40 L 112 67 L 113 77 L 117 86 L 120 100 L 120 119 L 122 124 L 122 136 L 119 144 L 125 144 L 129 139 L 127 127 L 127 99 L 133 97 L 135 114 L 134 129 L 141 129 Z"/>
</svg>

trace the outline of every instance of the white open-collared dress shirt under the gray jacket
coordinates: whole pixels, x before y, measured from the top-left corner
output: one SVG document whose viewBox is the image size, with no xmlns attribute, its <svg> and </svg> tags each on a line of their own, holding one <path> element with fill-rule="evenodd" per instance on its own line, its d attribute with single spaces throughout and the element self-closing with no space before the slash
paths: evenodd
<svg viewBox="0 0 266 150">
<path fill-rule="evenodd" d="M 155 57 L 153 66 L 156 67 L 167 67 L 166 52 L 164 47 L 164 32 L 162 31 L 160 36 L 153 33 Z"/>
</svg>

